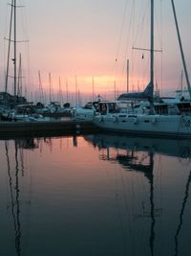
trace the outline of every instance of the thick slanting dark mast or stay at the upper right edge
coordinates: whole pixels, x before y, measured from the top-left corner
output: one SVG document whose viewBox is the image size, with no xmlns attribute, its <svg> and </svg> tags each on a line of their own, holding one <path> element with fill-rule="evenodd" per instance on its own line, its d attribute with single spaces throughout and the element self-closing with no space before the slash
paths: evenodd
<svg viewBox="0 0 191 256">
<path fill-rule="evenodd" d="M 178 25 L 177 13 L 176 13 L 176 10 L 175 10 L 174 0 L 171 0 L 171 3 L 172 3 L 172 7 L 173 7 L 173 13 L 174 13 L 174 18 L 175 18 L 175 24 L 176 24 L 176 29 L 177 29 L 177 35 L 178 35 L 179 44 L 180 44 L 181 60 L 182 60 L 182 63 L 183 63 L 183 69 L 184 69 L 184 73 L 185 73 L 185 79 L 186 79 L 186 82 L 187 82 L 188 92 L 189 92 L 189 96 L 190 96 L 190 100 L 191 100 L 191 86 L 190 86 L 190 81 L 189 81 L 189 78 L 188 78 L 188 73 L 187 73 L 185 58 L 184 58 L 184 54 L 183 54 L 183 48 L 182 48 L 182 44 L 181 44 L 180 30 L 179 30 L 179 25 Z"/>
</svg>

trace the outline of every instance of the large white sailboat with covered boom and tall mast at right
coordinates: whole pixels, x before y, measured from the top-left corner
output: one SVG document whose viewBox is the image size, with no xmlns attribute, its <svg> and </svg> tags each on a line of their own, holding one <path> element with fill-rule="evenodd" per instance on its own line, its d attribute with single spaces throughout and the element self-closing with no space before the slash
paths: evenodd
<svg viewBox="0 0 191 256">
<path fill-rule="evenodd" d="M 181 44 L 180 51 L 182 54 Z M 121 113 L 117 108 L 117 103 L 101 102 L 96 107 L 94 119 L 96 127 L 129 134 L 191 137 L 190 102 L 185 102 L 186 111 L 182 111 L 182 103 L 174 105 L 156 105 L 154 103 L 154 52 L 154 0 L 151 0 L 150 81 L 143 92 L 125 93 L 118 97 L 118 100 L 147 100 L 150 106 L 149 108 L 142 107 L 141 112 L 126 111 Z M 182 60 L 185 67 L 184 58 Z M 156 111 L 156 107 L 158 107 L 158 111 Z M 159 111 L 163 107 L 168 109 Z"/>
</svg>

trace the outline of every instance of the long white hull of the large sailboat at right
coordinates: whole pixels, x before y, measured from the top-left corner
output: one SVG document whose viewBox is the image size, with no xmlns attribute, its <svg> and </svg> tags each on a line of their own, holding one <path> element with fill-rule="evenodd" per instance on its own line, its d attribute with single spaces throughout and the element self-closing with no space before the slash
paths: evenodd
<svg viewBox="0 0 191 256">
<path fill-rule="evenodd" d="M 97 115 L 98 128 L 150 136 L 191 137 L 191 115 Z"/>
</svg>

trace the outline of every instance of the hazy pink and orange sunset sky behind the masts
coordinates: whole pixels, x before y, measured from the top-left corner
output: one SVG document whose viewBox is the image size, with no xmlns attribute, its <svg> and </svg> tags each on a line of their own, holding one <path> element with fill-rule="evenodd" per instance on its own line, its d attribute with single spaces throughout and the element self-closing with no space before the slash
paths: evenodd
<svg viewBox="0 0 191 256">
<path fill-rule="evenodd" d="M 0 90 L 4 90 L 11 7 L 0 0 Z M 155 1 L 155 81 L 159 90 L 180 86 L 182 64 L 170 0 Z M 66 94 L 101 94 L 111 98 L 126 90 L 126 62 L 130 65 L 130 90 L 149 81 L 150 0 L 17 0 L 17 39 L 22 55 L 23 91 L 28 97 L 42 88 L 55 99 Z M 175 0 L 188 73 L 191 73 L 191 1 Z M 17 57 L 18 59 L 18 57 Z M 12 73 L 10 74 L 12 76 Z M 59 78 L 61 85 L 59 86 Z M 93 86 L 94 81 L 94 86 Z M 184 83 L 185 84 L 185 81 Z M 9 90 L 12 92 L 10 79 Z M 64 96 L 65 97 L 65 96 Z M 33 100 L 32 98 L 32 100 Z"/>
</svg>

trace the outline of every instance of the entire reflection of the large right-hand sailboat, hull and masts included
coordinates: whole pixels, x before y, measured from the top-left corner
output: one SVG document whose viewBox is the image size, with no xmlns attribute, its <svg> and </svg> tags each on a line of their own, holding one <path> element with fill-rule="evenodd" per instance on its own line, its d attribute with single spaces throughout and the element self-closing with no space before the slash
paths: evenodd
<svg viewBox="0 0 191 256">
<path fill-rule="evenodd" d="M 160 138 L 143 138 L 143 137 L 129 137 L 125 135 L 114 135 L 100 133 L 89 135 L 85 137 L 88 142 L 91 142 L 99 151 L 105 149 L 100 154 L 101 160 L 117 162 L 123 169 L 129 172 L 140 172 L 145 175 L 150 184 L 150 254 L 155 255 L 155 225 L 156 217 L 161 214 L 161 209 L 155 209 L 155 192 L 154 192 L 154 155 L 156 153 L 168 156 L 176 156 L 180 160 L 187 159 L 190 162 L 191 158 L 191 141 L 189 140 L 172 140 Z M 111 150 L 116 150 L 117 153 L 110 155 Z M 123 150 L 123 151 L 120 151 Z M 145 154 L 146 152 L 146 154 Z M 145 161 L 147 159 L 147 161 Z M 175 256 L 179 255 L 179 237 L 180 230 L 183 224 L 183 215 L 186 207 L 186 202 L 189 197 L 189 188 L 191 182 L 191 171 L 188 175 L 185 184 L 184 197 L 182 199 L 179 223 L 175 234 Z M 143 206 L 144 208 L 144 206 Z M 148 216 L 147 212 L 143 211 L 143 217 Z"/>
</svg>

